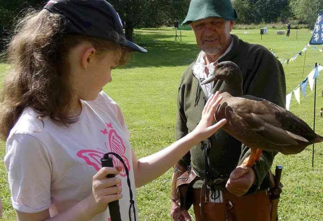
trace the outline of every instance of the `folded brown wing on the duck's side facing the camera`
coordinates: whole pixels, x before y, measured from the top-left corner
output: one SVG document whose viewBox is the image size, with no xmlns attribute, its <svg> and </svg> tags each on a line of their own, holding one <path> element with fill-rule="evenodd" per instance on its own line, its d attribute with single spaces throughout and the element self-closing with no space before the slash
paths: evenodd
<svg viewBox="0 0 323 221">
<path fill-rule="evenodd" d="M 245 125 L 244 129 L 254 131 L 266 141 L 278 146 L 298 145 L 297 140 L 308 142 L 304 137 L 282 128 L 275 110 L 268 107 L 267 102 L 264 99 L 235 99 L 226 107 L 225 115 L 232 119 L 232 124 Z M 234 122 L 235 119 L 243 119 L 243 123 Z"/>
</svg>

